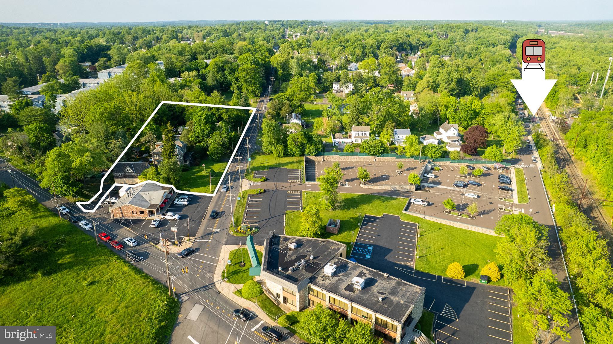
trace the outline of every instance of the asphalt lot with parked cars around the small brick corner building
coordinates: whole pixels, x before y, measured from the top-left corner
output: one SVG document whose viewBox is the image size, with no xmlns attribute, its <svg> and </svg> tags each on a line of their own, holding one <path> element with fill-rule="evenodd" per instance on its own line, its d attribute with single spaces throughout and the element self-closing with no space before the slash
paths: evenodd
<svg viewBox="0 0 613 344">
<path fill-rule="evenodd" d="M 183 193 L 177 193 L 177 196 L 185 195 Z M 151 220 L 135 220 L 135 219 L 118 219 L 121 225 L 134 230 L 135 232 L 147 235 L 147 239 L 151 242 L 158 243 L 160 233 L 162 238 L 168 238 L 171 241 L 175 240 L 175 232 L 172 228 L 177 228 L 176 236 L 177 240 L 181 241 L 183 237 L 193 237 L 198 230 L 200 221 L 208 216 L 207 208 L 210 204 L 211 196 L 199 196 L 199 195 L 187 195 L 189 196 L 189 204 L 186 206 L 170 204 L 166 211 L 178 214 L 180 217 L 178 220 L 166 220 L 162 219 L 158 227 L 150 227 Z M 219 209 L 216 209 L 219 211 Z M 223 215 L 219 214 L 219 215 Z M 189 228 L 188 228 L 189 223 Z"/>
</svg>

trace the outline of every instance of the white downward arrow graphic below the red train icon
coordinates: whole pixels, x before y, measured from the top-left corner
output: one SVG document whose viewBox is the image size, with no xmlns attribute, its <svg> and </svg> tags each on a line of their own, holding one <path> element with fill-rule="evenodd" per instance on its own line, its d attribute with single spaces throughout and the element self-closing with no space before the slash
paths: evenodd
<svg viewBox="0 0 613 344">
<path fill-rule="evenodd" d="M 520 80 L 511 80 L 513 86 L 519 92 L 520 97 L 524 99 L 528 109 L 533 114 L 541 107 L 541 104 L 549 94 L 549 91 L 554 87 L 557 79 L 545 78 L 545 64 L 543 62 L 540 68 L 533 68 L 536 64 L 530 64 L 526 69 L 526 63 L 522 62 L 522 78 Z"/>
</svg>

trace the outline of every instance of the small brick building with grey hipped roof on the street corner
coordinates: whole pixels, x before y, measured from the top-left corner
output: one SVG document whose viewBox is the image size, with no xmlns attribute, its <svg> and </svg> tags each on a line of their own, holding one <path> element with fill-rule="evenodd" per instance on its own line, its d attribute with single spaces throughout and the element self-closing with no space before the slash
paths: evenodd
<svg viewBox="0 0 613 344">
<path fill-rule="evenodd" d="M 147 182 L 129 189 L 109 211 L 113 219 L 152 219 L 162 214 L 161 204 L 172 195 L 172 189 Z"/>
</svg>

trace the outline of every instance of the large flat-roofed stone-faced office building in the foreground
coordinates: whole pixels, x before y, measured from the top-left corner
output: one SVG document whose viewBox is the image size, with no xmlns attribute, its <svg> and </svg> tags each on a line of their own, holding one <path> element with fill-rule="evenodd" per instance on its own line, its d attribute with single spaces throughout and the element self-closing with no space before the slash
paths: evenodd
<svg viewBox="0 0 613 344">
<path fill-rule="evenodd" d="M 419 321 L 425 288 L 345 259 L 329 239 L 275 236 L 264 242 L 261 279 L 292 310 L 322 304 L 343 318 L 372 326 L 386 343 L 400 343 Z"/>
</svg>

